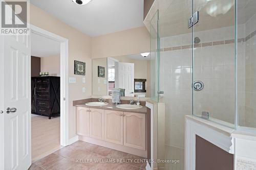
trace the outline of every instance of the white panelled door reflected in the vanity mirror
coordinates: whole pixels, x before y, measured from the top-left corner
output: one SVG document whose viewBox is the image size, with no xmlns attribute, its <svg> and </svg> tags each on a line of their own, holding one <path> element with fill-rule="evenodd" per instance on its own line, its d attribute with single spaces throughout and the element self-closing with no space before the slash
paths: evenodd
<svg viewBox="0 0 256 170">
<path fill-rule="evenodd" d="M 134 63 L 118 63 L 118 88 L 125 89 L 125 96 L 134 96 Z"/>
</svg>

